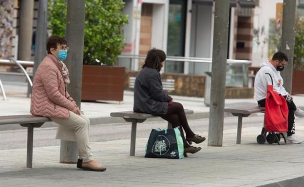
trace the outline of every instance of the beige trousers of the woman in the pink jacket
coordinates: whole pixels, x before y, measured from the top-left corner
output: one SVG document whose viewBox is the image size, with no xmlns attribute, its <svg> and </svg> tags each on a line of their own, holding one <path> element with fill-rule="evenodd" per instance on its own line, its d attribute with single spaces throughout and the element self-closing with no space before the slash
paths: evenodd
<svg viewBox="0 0 304 187">
<path fill-rule="evenodd" d="M 89 162 L 93 160 L 93 155 L 90 148 L 89 140 L 89 126 L 90 120 L 85 116 L 78 116 L 75 113 L 70 111 L 70 118 L 50 118 L 52 121 L 62 125 L 65 129 L 68 129 L 74 132 L 78 147 L 78 156 L 83 162 Z M 62 138 L 68 139 L 68 138 Z"/>
</svg>

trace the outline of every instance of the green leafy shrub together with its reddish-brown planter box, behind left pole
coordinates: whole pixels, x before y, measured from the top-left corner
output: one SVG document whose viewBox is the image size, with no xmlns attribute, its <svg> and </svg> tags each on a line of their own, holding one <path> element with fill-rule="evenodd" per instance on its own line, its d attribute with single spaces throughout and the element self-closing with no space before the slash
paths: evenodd
<svg viewBox="0 0 304 187">
<path fill-rule="evenodd" d="M 121 27 L 128 16 L 122 14 L 123 6 L 122 0 L 86 1 L 82 100 L 123 100 L 125 69 L 112 67 L 124 48 Z M 48 7 L 53 34 L 64 37 L 66 0 L 50 0 Z"/>
</svg>

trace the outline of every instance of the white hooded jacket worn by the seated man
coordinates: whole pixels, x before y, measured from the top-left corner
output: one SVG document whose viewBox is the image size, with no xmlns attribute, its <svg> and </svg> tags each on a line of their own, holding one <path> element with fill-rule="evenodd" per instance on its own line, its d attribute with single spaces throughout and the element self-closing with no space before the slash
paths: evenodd
<svg viewBox="0 0 304 187">
<path fill-rule="evenodd" d="M 285 96 L 288 92 L 283 87 L 283 78 L 280 71 L 278 71 L 268 59 L 266 59 L 257 72 L 254 80 L 254 97 L 257 101 L 263 100 L 267 95 L 267 85 L 271 85 L 271 76 L 273 80 L 273 90 Z"/>
</svg>

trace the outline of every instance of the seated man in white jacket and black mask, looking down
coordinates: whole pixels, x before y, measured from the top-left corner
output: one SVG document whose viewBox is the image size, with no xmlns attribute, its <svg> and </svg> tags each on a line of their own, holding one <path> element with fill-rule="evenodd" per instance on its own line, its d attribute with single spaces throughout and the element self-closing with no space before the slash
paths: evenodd
<svg viewBox="0 0 304 187">
<path fill-rule="evenodd" d="M 294 104 L 292 97 L 288 94 L 283 86 L 283 78 L 281 77 L 280 71 L 284 69 L 284 66 L 288 62 L 288 57 L 285 53 L 278 51 L 276 52 L 272 59 L 266 59 L 262 63 L 262 67 L 257 72 L 254 81 L 254 96 L 260 106 L 265 107 L 266 95 L 267 95 L 267 85 L 272 84 L 271 78 L 273 80 L 273 90 L 283 95 L 286 99 L 288 105 L 288 132 L 287 132 L 287 143 L 301 143 L 302 140 L 297 138 L 295 134 L 295 115 L 297 117 L 303 118 L 304 111 L 297 108 Z M 271 78 L 270 78 L 271 77 Z"/>
</svg>

